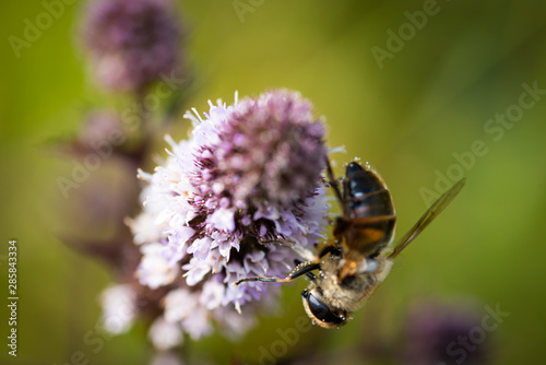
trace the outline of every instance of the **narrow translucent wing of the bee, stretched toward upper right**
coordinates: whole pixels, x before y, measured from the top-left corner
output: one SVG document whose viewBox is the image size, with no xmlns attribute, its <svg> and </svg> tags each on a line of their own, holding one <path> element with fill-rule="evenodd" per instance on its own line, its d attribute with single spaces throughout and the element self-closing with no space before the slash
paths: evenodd
<svg viewBox="0 0 546 365">
<path fill-rule="evenodd" d="M 451 203 L 451 201 L 456 197 L 459 191 L 464 186 L 464 182 L 466 182 L 466 178 L 463 178 L 459 180 L 455 185 L 451 187 L 448 191 L 446 191 L 440 198 L 438 198 L 437 201 L 434 202 L 432 205 L 423 214 L 423 216 L 415 223 L 415 225 L 405 234 L 405 236 L 400 240 L 400 244 L 396 245 L 396 248 L 394 248 L 394 251 L 389 256 L 390 259 L 395 258 L 400 251 L 402 251 L 412 240 L 417 237 L 417 235 L 425 229 L 427 225 L 432 222 L 435 217 L 440 214 L 446 207 Z"/>
</svg>

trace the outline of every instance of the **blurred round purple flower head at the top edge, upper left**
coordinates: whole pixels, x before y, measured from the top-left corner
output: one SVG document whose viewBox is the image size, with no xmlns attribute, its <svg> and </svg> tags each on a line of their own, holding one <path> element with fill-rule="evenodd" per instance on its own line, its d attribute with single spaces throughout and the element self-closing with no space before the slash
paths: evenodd
<svg viewBox="0 0 546 365">
<path fill-rule="evenodd" d="M 179 66 L 180 26 L 168 0 L 97 0 L 86 9 L 84 40 L 108 90 L 143 91 Z"/>
</svg>

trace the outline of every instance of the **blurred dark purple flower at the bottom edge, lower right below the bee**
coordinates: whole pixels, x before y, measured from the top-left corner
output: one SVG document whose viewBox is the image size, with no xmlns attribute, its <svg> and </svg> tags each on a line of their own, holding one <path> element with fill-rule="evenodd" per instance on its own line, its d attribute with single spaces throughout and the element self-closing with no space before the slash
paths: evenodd
<svg viewBox="0 0 546 365">
<path fill-rule="evenodd" d="M 406 322 L 403 363 L 430 364 L 486 364 L 487 339 L 474 343 L 471 334 L 480 329 L 476 306 L 419 301 L 410 310 Z M 482 331 L 484 331 L 482 329 Z"/>
</svg>

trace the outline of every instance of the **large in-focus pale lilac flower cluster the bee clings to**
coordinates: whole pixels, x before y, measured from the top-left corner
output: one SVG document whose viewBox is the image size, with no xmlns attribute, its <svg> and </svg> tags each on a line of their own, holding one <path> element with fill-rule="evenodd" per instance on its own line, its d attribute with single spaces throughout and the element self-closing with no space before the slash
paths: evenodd
<svg viewBox="0 0 546 365">
<path fill-rule="evenodd" d="M 129 223 L 143 255 L 136 275 L 151 289 L 169 289 L 151 333 L 177 323 L 198 339 L 211 331 L 211 319 L 245 331 L 252 308 L 273 303 L 277 290 L 233 283 L 290 271 L 298 257 L 272 240 L 306 246 L 323 238 L 327 148 L 310 103 L 276 90 L 210 104 L 204 118 L 187 114 L 194 125 L 189 140 L 167 138 L 166 161 L 153 174 L 140 172 L 149 182 L 144 210 Z"/>
</svg>

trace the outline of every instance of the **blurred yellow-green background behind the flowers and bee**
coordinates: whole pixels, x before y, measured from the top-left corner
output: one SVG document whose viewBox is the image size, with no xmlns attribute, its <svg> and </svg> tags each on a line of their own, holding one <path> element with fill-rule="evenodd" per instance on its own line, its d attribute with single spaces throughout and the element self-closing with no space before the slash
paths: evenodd
<svg viewBox="0 0 546 365">
<path fill-rule="evenodd" d="M 241 2 L 252 9 L 241 16 L 232 1 L 179 3 L 194 75 L 185 108 L 206 110 L 206 101 L 218 97 L 232 103 L 236 90 L 240 96 L 270 87 L 300 91 L 325 116 L 330 146 L 346 148 L 334 155 L 336 172 L 358 156 L 382 175 L 396 205 L 399 235 L 427 208 L 423 191 L 435 190 L 439 174 L 454 179 L 463 170 L 468 178 L 354 321 L 341 330 L 312 329 L 288 346 L 288 356 L 309 352 L 331 363 L 377 363 L 351 354 L 370 337 L 396 338 L 407 308 L 431 297 L 473 301 L 480 315 L 486 305 L 499 304 L 510 316 L 487 333 L 491 362 L 542 362 L 546 95 L 537 94 L 513 125 L 497 125 L 495 133 L 484 128 L 496 114 L 518 110 L 522 84 L 546 90 L 546 2 L 439 0 L 437 13 L 414 33 L 403 26 L 405 12 L 429 1 Z M 76 36 L 81 8 L 67 5 L 17 58 L 7 39 L 21 37 L 24 20 L 34 20 L 44 5 L 0 4 L 0 270 L 5 278 L 8 240 L 16 238 L 20 295 L 17 357 L 2 345 L 2 364 L 60 365 L 74 351 L 90 364 L 145 364 L 151 353 L 143 326 L 106 341 L 96 354 L 83 342 L 100 314 L 97 295 L 112 279 L 56 237 L 56 178 L 67 162 L 50 152 L 48 141 L 78 131 L 86 107 L 123 103 L 110 102 L 93 84 Z M 401 26 L 410 32 L 407 40 L 378 62 L 372 49 L 394 49 L 388 31 L 399 34 Z M 182 138 L 187 122 L 178 119 Z M 485 145 L 482 155 L 472 154 L 475 141 Z M 466 166 L 454 154 L 466 156 Z M 7 293 L 7 279 L 2 285 Z M 294 327 L 304 314 L 305 285 L 285 287 L 277 314 L 262 318 L 239 342 L 219 334 L 187 341 L 190 358 L 258 362 L 260 346 L 271 349 L 280 339 L 276 329 Z M 1 308 L 7 341 L 8 311 Z"/>
</svg>

